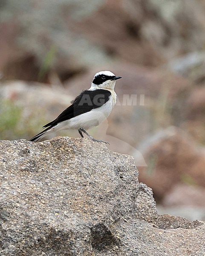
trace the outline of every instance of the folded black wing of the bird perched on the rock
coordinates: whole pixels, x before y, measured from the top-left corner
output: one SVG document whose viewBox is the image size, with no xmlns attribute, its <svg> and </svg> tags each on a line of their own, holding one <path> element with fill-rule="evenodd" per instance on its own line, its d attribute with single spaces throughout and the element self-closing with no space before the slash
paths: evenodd
<svg viewBox="0 0 205 256">
<path fill-rule="evenodd" d="M 110 96 L 109 90 L 84 90 L 74 99 L 72 105 L 66 108 L 54 121 L 44 125 L 43 128 L 55 126 L 59 122 L 87 113 L 94 108 L 99 108 L 110 99 Z"/>
</svg>

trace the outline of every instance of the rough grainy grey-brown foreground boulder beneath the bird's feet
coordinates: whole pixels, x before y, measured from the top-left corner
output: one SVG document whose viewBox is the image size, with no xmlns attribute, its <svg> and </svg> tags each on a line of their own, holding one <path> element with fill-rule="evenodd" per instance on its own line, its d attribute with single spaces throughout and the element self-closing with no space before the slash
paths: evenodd
<svg viewBox="0 0 205 256">
<path fill-rule="evenodd" d="M 133 157 L 88 139 L 0 141 L 0 255 L 193 255 L 205 224 L 158 215 Z"/>
</svg>

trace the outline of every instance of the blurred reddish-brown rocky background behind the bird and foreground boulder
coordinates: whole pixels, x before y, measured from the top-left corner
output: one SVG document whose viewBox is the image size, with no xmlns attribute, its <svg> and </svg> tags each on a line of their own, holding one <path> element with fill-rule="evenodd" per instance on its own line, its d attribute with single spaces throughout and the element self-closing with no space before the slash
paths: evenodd
<svg viewBox="0 0 205 256">
<path fill-rule="evenodd" d="M 1 140 L 40 132 L 100 70 L 123 79 L 91 134 L 135 157 L 159 212 L 205 220 L 205 1 L 0 0 Z"/>
</svg>

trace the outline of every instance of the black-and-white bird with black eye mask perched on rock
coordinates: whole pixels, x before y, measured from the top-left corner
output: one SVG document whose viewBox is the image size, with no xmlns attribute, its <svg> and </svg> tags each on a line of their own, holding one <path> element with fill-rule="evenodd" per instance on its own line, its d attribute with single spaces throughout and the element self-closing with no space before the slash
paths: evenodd
<svg viewBox="0 0 205 256">
<path fill-rule="evenodd" d="M 110 71 L 101 71 L 95 74 L 90 89 L 84 90 L 78 95 L 54 121 L 44 125 L 46 128 L 34 136 L 30 141 L 37 142 L 47 134 L 61 130 L 78 130 L 81 137 L 86 134 L 95 140 L 87 129 L 98 126 L 110 115 L 115 103 L 116 93 L 114 91 L 115 81 L 121 76 L 115 76 Z M 106 143 L 106 142 L 104 142 Z"/>
</svg>

